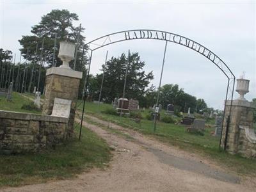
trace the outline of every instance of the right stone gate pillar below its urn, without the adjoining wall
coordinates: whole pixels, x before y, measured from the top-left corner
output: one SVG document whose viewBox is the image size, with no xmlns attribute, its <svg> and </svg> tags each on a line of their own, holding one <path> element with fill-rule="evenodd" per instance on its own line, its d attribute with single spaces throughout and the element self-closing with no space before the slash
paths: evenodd
<svg viewBox="0 0 256 192">
<path fill-rule="evenodd" d="M 221 148 L 224 148 L 225 145 L 225 136 L 227 131 L 228 124 L 228 115 L 230 110 L 231 100 L 227 100 L 227 105 L 225 109 L 225 118 L 222 127 L 222 139 L 221 139 Z M 241 132 L 241 128 L 239 127 L 249 127 L 253 126 L 253 110 L 254 106 L 252 102 L 248 102 L 247 100 L 233 100 L 232 110 L 230 113 L 230 122 L 228 126 L 228 134 L 227 134 L 227 145 L 226 150 L 231 154 L 237 154 L 239 151 L 239 138 Z M 240 143 L 241 144 L 241 143 Z"/>
</svg>

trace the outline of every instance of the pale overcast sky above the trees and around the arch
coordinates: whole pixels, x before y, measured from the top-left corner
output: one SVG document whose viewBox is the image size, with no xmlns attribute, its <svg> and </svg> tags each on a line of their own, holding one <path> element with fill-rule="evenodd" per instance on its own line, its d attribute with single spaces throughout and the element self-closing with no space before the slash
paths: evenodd
<svg viewBox="0 0 256 192">
<path fill-rule="evenodd" d="M 250 79 L 247 100 L 256 97 L 256 2 L 255 1 L 6 1 L 0 0 L 0 47 L 17 54 L 22 35 L 52 9 L 77 13 L 85 28 L 86 42 L 129 29 L 156 29 L 176 33 L 204 45 L 223 60 L 236 78 L 245 72 Z M 108 58 L 122 52 L 139 52 L 146 72 L 153 71 L 152 84 L 159 85 L 164 42 L 125 41 L 93 52 L 92 74 Z M 204 56 L 168 43 L 163 84 L 179 84 L 185 92 L 205 100 L 209 107 L 223 109 L 227 77 Z M 234 99 L 239 97 L 234 93 Z"/>
</svg>

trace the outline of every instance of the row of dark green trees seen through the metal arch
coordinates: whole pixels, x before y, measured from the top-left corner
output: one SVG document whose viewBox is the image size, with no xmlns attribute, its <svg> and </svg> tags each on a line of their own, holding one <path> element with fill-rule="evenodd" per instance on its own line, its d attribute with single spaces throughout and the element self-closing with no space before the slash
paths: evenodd
<svg viewBox="0 0 256 192">
<path fill-rule="evenodd" d="M 143 70 L 144 66 L 145 62 L 141 61 L 138 52 L 129 53 L 129 56 L 123 53 L 120 57 L 112 57 L 106 65 L 102 65 L 99 74 L 90 76 L 88 95 L 93 100 L 99 100 L 100 86 L 103 83 L 100 100 L 111 103 L 115 98 L 122 97 L 127 72 L 125 97 L 139 100 L 141 107 L 154 106 L 158 90 L 156 86 L 150 86 L 150 81 L 154 79 L 154 76 L 152 71 L 146 73 Z M 178 111 L 187 112 L 188 108 L 191 108 L 192 113 L 207 111 L 204 99 L 196 99 L 193 95 L 184 92 L 177 84 L 164 84 L 159 91 L 159 103 L 164 108 L 168 104 L 174 104 Z"/>
</svg>

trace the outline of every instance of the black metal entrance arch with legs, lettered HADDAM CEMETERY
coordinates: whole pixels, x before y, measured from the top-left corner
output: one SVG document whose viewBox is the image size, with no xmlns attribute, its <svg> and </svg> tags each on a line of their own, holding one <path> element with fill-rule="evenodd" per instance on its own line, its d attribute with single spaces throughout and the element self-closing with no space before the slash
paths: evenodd
<svg viewBox="0 0 256 192">
<path fill-rule="evenodd" d="M 88 67 L 88 73 L 86 75 L 86 80 L 84 83 L 84 90 L 83 90 L 83 115 L 84 115 L 84 104 L 86 100 L 86 93 L 87 93 L 87 86 L 88 86 L 88 74 L 90 74 L 90 67 L 91 67 L 91 61 L 92 61 L 92 55 L 93 51 L 100 49 L 101 47 L 105 47 L 107 45 L 115 44 L 118 42 L 124 42 L 127 40 L 140 40 L 140 39 L 148 39 L 148 40 L 163 40 L 166 42 L 172 42 L 175 44 L 183 45 L 185 47 L 188 47 L 189 49 L 192 49 L 193 51 L 198 52 L 199 54 L 202 54 L 210 60 L 216 67 L 218 67 L 221 72 L 227 77 L 227 92 L 225 97 L 225 108 L 227 104 L 227 100 L 231 100 L 231 106 L 228 111 L 228 119 L 227 119 L 227 131 L 225 133 L 225 139 L 224 139 L 224 150 L 226 149 L 227 144 L 227 133 L 228 133 L 228 125 L 230 120 L 230 113 L 232 109 L 232 101 L 233 101 L 233 95 L 234 95 L 234 86 L 235 86 L 235 79 L 236 77 L 230 70 L 230 68 L 224 63 L 223 60 L 221 60 L 214 52 L 212 52 L 210 49 L 207 49 L 203 45 L 199 44 L 198 42 L 195 42 L 194 40 L 191 40 L 189 38 L 186 38 L 185 36 L 177 35 L 175 33 L 170 33 L 167 31 L 159 31 L 159 30 L 150 30 L 150 29 L 134 29 L 134 30 L 127 30 L 127 31 L 120 31 L 116 33 L 111 33 L 108 35 L 100 36 L 99 38 L 96 38 L 95 40 L 92 40 L 84 45 L 83 52 L 87 48 L 90 52 L 89 54 L 89 67 Z M 226 110 L 224 108 L 224 114 L 223 114 L 223 122 Z M 81 127 L 80 127 L 80 134 L 79 138 L 81 136 L 81 128 L 83 123 L 83 115 L 81 118 Z M 222 122 L 222 127 L 223 127 Z M 222 139 L 222 129 L 221 129 L 221 138 Z"/>
</svg>

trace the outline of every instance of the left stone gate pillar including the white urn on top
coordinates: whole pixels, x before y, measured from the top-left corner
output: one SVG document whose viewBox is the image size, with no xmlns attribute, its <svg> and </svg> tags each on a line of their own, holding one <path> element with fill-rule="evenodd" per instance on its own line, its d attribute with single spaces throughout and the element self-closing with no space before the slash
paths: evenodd
<svg viewBox="0 0 256 192">
<path fill-rule="evenodd" d="M 70 116 L 68 120 L 67 137 L 72 136 L 76 113 L 76 102 L 82 72 L 72 70 L 68 63 L 74 59 L 75 45 L 70 42 L 60 42 L 58 57 L 63 61 L 60 67 L 47 69 L 45 79 L 45 100 L 43 115 L 51 115 L 54 99 L 71 100 Z"/>
</svg>

